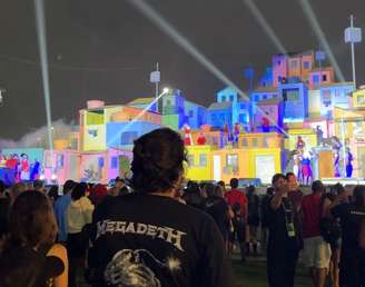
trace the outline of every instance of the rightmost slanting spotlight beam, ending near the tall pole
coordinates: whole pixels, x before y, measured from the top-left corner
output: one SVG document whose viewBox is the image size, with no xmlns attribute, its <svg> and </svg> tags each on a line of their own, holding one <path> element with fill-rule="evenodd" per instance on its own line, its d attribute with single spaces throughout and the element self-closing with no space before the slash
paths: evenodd
<svg viewBox="0 0 365 287">
<path fill-rule="evenodd" d="M 326 39 L 324 31 L 320 28 L 320 24 L 313 11 L 313 8 L 312 8 L 309 1 L 308 0 L 299 0 L 299 3 L 302 6 L 304 13 L 307 17 L 307 20 L 308 20 L 313 31 L 315 32 L 315 34 L 317 37 L 320 46 L 324 48 L 324 50 L 328 55 L 328 60 L 329 60 L 331 65 L 335 68 L 337 78 L 339 79 L 339 81 L 345 81 L 344 73 L 339 69 L 338 62 L 336 61 L 336 58 L 329 47 L 329 43 Z"/>
</svg>

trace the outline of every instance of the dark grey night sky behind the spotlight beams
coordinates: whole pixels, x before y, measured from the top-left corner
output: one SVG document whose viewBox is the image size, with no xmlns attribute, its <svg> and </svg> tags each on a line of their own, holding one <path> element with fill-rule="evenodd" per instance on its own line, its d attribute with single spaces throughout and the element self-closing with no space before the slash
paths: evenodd
<svg viewBox="0 0 365 287">
<path fill-rule="evenodd" d="M 258 77 L 278 52 L 243 0 L 147 0 L 243 89 L 243 68 Z M 256 0 L 288 51 L 318 47 L 298 0 Z M 1 138 L 18 139 L 46 125 L 33 1 L 1 0 Z M 312 0 L 347 80 L 349 47 L 343 30 L 354 13 L 365 28 L 364 0 Z M 88 99 L 126 103 L 154 95 L 149 72 L 160 63 L 162 85 L 208 106 L 225 87 L 125 0 L 46 0 L 52 119 L 78 119 Z M 357 83 L 365 83 L 365 43 L 357 46 Z"/>
</svg>

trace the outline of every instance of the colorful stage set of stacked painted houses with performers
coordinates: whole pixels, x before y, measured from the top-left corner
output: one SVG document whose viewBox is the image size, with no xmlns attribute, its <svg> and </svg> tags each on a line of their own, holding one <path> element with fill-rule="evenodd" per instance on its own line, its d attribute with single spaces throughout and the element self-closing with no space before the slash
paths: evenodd
<svg viewBox="0 0 365 287">
<path fill-rule="evenodd" d="M 365 89 L 336 81 L 316 52 L 274 56 L 247 97 L 226 87 L 208 108 L 180 90 L 164 95 L 159 105 L 156 98 L 117 106 L 91 100 L 80 110 L 78 132 L 55 139 L 53 152 L 3 149 L 2 174 L 58 182 L 128 177 L 134 140 L 170 127 L 184 137 L 188 179 L 268 184 L 284 171 L 295 172 L 302 184 L 365 177 Z"/>
</svg>

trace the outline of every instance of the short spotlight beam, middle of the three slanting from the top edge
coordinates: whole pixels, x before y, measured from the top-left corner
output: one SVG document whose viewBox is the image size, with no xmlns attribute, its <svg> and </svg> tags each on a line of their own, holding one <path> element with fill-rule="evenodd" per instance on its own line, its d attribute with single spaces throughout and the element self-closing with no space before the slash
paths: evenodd
<svg viewBox="0 0 365 287">
<path fill-rule="evenodd" d="M 282 43 L 280 39 L 277 37 L 273 28 L 269 26 L 267 20 L 265 19 L 262 11 L 258 9 L 258 7 L 254 3 L 253 0 L 243 0 L 243 2 L 248 7 L 249 11 L 254 14 L 256 21 L 259 23 L 259 26 L 263 28 L 266 36 L 272 40 L 276 49 L 280 52 L 286 55 L 287 50 L 285 49 L 284 44 Z"/>
</svg>

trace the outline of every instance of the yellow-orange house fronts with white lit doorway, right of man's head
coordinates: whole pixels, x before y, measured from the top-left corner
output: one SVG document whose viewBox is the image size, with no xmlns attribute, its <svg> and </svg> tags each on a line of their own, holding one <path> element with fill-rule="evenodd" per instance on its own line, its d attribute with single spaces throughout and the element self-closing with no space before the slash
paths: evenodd
<svg viewBox="0 0 365 287">
<path fill-rule="evenodd" d="M 273 175 L 282 172 L 285 150 L 283 137 L 275 132 L 245 133 L 238 147 L 188 146 L 186 178 L 190 180 L 224 180 L 260 178 L 269 184 Z"/>
</svg>

